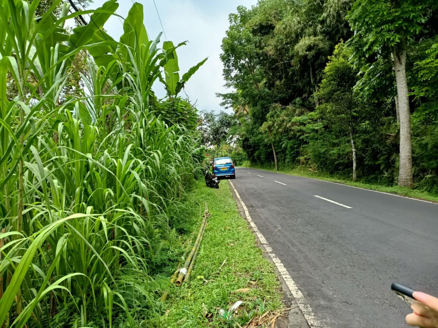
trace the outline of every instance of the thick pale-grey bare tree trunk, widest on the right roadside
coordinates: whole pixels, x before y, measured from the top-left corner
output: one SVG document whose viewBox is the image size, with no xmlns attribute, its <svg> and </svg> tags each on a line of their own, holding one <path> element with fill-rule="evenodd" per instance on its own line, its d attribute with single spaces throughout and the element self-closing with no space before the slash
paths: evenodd
<svg viewBox="0 0 438 328">
<path fill-rule="evenodd" d="M 411 112 L 406 81 L 406 49 L 393 49 L 400 116 L 399 186 L 414 188 L 412 177 Z"/>
</svg>

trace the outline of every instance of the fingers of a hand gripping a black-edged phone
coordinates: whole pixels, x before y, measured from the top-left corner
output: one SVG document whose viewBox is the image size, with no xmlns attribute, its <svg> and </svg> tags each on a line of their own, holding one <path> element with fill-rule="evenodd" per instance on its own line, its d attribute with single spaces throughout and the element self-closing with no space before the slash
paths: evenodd
<svg viewBox="0 0 438 328">
<path fill-rule="evenodd" d="M 426 293 L 414 292 L 414 298 L 421 303 L 414 303 L 413 313 L 406 316 L 409 326 L 421 328 L 438 328 L 438 298 Z"/>
</svg>

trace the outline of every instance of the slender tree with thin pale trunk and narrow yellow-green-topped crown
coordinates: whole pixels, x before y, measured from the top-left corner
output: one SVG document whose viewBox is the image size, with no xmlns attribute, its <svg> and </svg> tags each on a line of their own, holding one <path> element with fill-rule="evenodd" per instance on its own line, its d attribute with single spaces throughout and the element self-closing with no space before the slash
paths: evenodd
<svg viewBox="0 0 438 328">
<path fill-rule="evenodd" d="M 351 143 L 353 160 L 353 181 L 357 178 L 357 150 L 355 130 L 359 117 L 359 100 L 353 92 L 357 82 L 357 71 L 348 61 L 351 50 L 342 42 L 338 44 L 329 57 L 329 63 L 324 69 L 324 77 L 319 91 L 315 94 L 321 101 L 316 109 L 333 130 L 347 134 Z"/>
</svg>

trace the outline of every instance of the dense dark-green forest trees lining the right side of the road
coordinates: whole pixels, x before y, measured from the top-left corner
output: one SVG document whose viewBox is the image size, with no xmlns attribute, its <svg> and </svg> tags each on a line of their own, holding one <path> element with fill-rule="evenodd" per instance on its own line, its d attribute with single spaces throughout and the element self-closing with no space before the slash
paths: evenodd
<svg viewBox="0 0 438 328">
<path fill-rule="evenodd" d="M 234 91 L 220 95 L 239 119 L 237 144 L 256 165 L 276 154 L 279 166 L 404 186 L 412 153 L 415 185 L 437 193 L 437 21 L 435 1 L 238 7 L 221 55 Z"/>
</svg>

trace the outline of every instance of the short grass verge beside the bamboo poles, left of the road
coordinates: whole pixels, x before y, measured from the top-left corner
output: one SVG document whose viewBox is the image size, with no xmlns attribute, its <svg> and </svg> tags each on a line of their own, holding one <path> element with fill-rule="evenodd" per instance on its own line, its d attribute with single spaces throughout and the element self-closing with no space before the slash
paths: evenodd
<svg viewBox="0 0 438 328">
<path fill-rule="evenodd" d="M 241 326 L 252 316 L 283 307 L 274 265 L 257 247 L 227 181 L 220 183 L 219 190 L 199 183 L 189 196 L 187 207 L 198 218 L 194 231 L 201 223 L 204 200 L 211 217 L 190 281 L 173 286 L 164 314 L 148 315 L 143 327 L 234 327 L 233 320 L 226 323 L 220 317 L 219 309 L 227 311 L 238 300 L 243 304 L 234 320 Z M 239 289 L 249 290 L 236 292 Z"/>
</svg>

